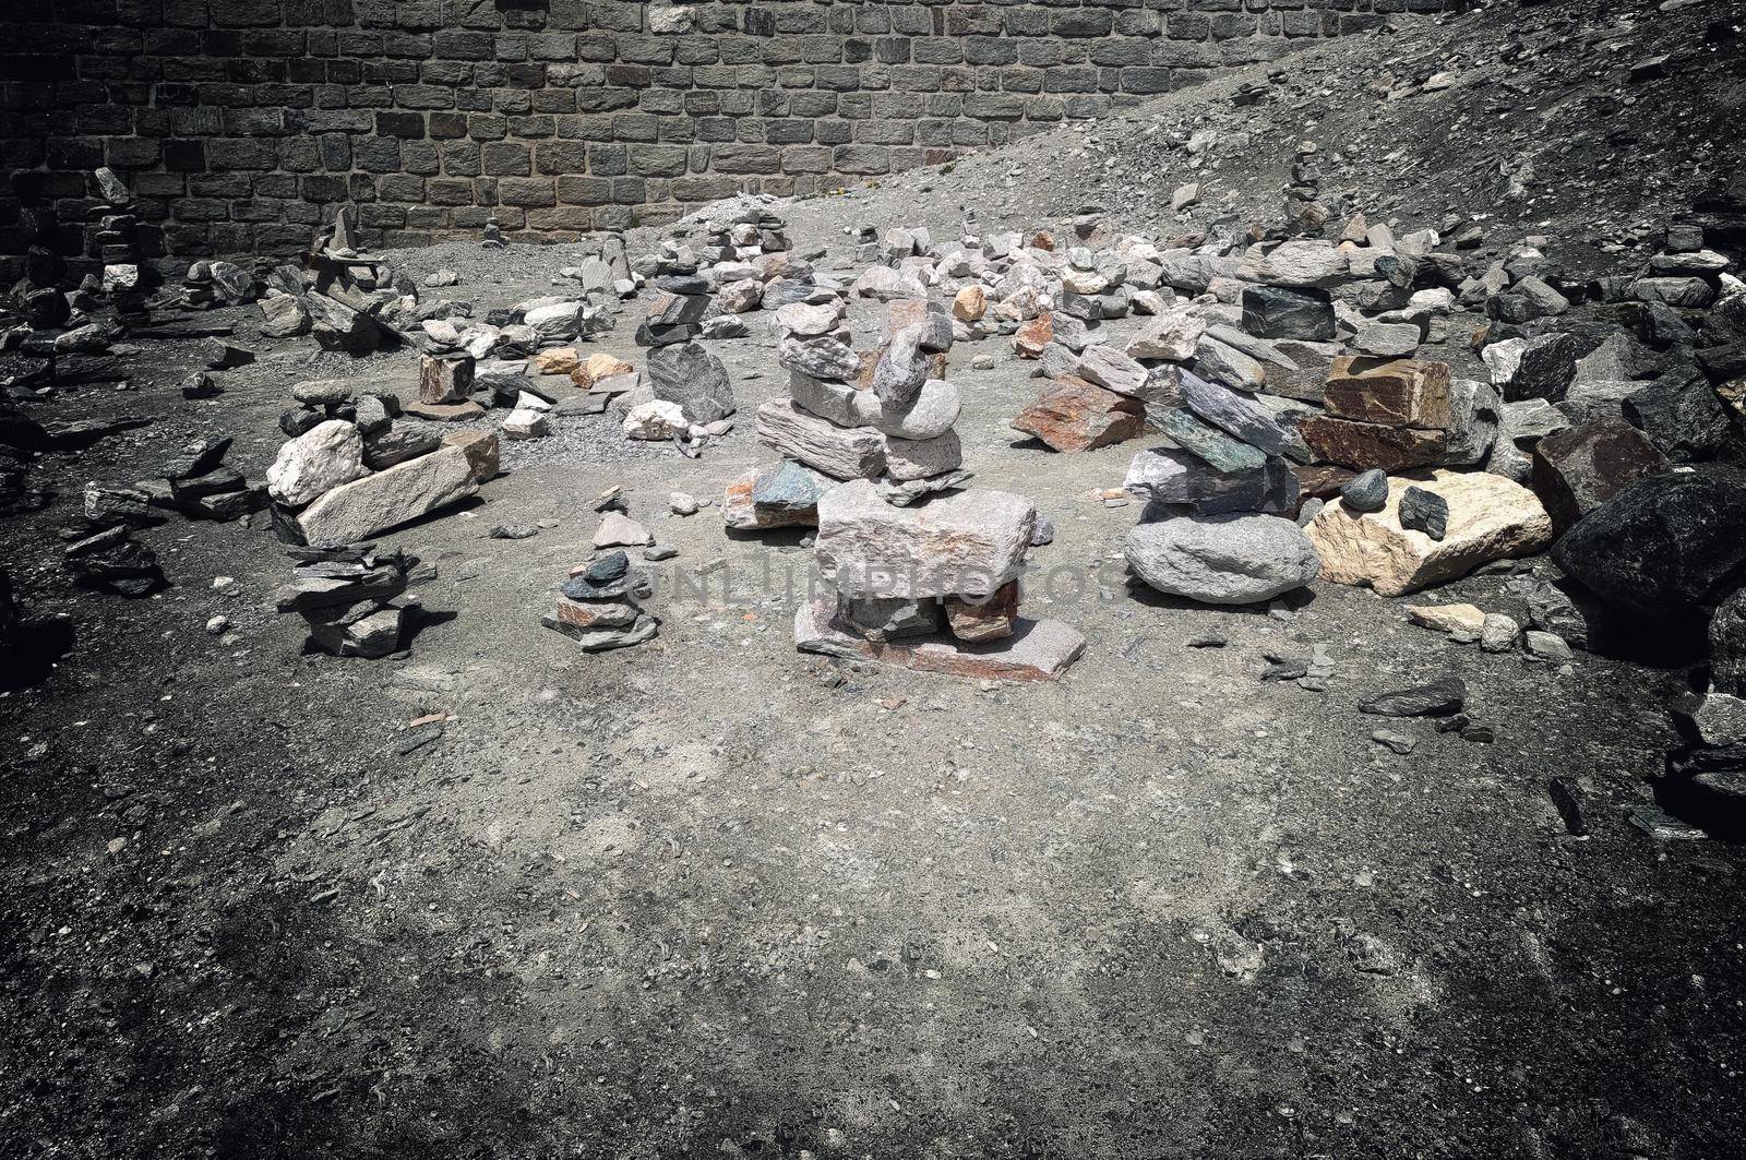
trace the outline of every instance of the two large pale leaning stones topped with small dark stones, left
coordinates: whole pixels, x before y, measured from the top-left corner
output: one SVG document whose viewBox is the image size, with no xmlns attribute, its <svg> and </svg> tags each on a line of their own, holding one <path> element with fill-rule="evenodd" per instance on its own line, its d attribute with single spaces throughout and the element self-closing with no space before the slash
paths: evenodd
<svg viewBox="0 0 1746 1160">
<path fill-rule="evenodd" d="M 342 379 L 292 388 L 300 409 L 267 468 L 272 524 L 286 543 L 335 547 L 370 540 L 459 503 L 498 473 L 498 435 L 435 428 L 400 414 L 388 391 L 354 393 Z"/>
</svg>

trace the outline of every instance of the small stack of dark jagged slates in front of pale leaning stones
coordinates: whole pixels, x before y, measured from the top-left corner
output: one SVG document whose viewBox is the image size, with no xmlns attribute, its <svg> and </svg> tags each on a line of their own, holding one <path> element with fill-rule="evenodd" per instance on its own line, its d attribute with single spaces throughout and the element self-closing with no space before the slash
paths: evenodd
<svg viewBox="0 0 1746 1160">
<path fill-rule="evenodd" d="M 290 549 L 292 582 L 279 589 L 281 613 L 309 624 L 309 639 L 335 657 L 377 660 L 400 650 L 417 601 L 402 601 L 409 583 L 436 575 L 419 559 L 374 543 Z M 416 571 L 417 570 L 417 571 Z"/>
</svg>

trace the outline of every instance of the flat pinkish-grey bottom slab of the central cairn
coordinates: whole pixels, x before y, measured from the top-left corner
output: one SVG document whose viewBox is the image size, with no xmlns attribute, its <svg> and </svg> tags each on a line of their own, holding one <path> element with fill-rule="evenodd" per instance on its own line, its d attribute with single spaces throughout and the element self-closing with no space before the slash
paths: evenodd
<svg viewBox="0 0 1746 1160">
<path fill-rule="evenodd" d="M 1011 636 L 978 645 L 939 634 L 880 645 L 836 627 L 831 601 L 803 603 L 794 611 L 800 652 L 985 681 L 1053 681 L 1086 646 L 1086 638 L 1069 624 L 1023 617 L 1013 622 Z"/>
</svg>

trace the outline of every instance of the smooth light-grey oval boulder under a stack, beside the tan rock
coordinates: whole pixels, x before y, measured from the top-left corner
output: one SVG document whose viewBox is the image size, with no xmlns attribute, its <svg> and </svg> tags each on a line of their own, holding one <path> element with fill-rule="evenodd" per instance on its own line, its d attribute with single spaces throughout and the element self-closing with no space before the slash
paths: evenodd
<svg viewBox="0 0 1746 1160">
<path fill-rule="evenodd" d="M 1128 533 L 1128 568 L 1159 592 L 1206 604 L 1257 604 L 1322 575 L 1297 524 L 1278 515 L 1182 515 Z"/>
</svg>

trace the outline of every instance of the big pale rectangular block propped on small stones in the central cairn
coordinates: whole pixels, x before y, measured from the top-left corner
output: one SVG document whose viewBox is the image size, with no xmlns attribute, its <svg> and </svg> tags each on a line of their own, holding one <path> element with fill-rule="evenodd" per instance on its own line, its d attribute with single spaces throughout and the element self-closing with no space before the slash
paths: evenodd
<svg viewBox="0 0 1746 1160">
<path fill-rule="evenodd" d="M 885 503 L 866 480 L 819 500 L 819 573 L 866 596 L 990 596 L 1018 575 L 1037 508 L 1004 491 L 959 491 L 915 507 Z"/>
</svg>

